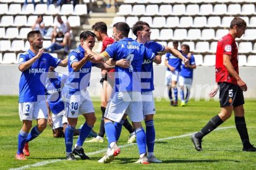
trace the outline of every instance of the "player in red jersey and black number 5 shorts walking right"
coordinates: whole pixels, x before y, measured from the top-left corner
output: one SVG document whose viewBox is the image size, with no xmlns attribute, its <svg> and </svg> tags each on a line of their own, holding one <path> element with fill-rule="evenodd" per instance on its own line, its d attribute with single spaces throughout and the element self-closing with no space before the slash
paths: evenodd
<svg viewBox="0 0 256 170">
<path fill-rule="evenodd" d="M 244 118 L 243 92 L 247 91 L 247 85 L 239 76 L 238 51 L 235 41 L 236 38 L 241 38 L 242 34 L 244 34 L 246 26 L 246 22 L 242 18 L 233 18 L 229 33 L 218 41 L 215 76 L 216 83 L 218 83 L 220 88 L 221 111 L 218 115 L 211 118 L 199 132 L 191 136 L 197 151 L 202 150 L 202 138 L 230 118 L 234 111 L 236 129 L 242 140 L 242 150 L 245 152 L 256 152 L 256 148 L 250 144 Z M 218 86 L 210 92 L 210 97 L 216 95 Z"/>
</svg>

